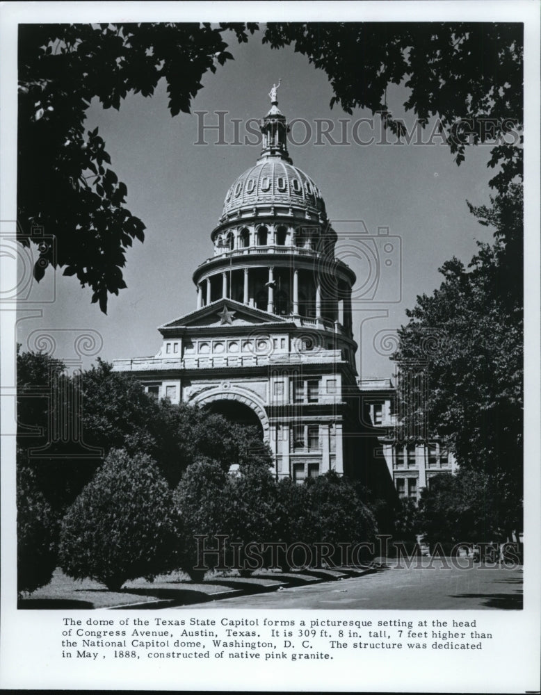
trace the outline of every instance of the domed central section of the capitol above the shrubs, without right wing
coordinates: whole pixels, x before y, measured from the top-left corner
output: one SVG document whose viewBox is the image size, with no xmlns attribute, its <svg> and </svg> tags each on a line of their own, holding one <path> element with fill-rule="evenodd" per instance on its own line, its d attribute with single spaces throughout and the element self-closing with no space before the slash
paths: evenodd
<svg viewBox="0 0 541 695">
<path fill-rule="evenodd" d="M 336 471 L 393 498 L 389 442 L 357 377 L 355 273 L 334 256 L 317 184 L 291 161 L 276 88 L 259 159 L 225 195 L 213 256 L 193 273 L 195 309 L 159 327 L 154 357 L 119 359 L 156 398 L 255 425 L 276 477 Z"/>
</svg>

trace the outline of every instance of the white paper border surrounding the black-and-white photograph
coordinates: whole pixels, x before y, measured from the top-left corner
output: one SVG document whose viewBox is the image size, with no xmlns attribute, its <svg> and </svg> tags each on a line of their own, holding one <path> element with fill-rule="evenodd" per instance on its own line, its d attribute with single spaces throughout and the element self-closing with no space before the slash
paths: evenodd
<svg viewBox="0 0 541 695">
<path fill-rule="evenodd" d="M 18 22 L 92 21 L 483 21 L 524 22 L 525 32 L 525 539 L 528 553 L 524 571 L 524 611 L 485 611 L 483 619 L 494 625 L 497 644 L 486 656 L 446 660 L 440 655 L 417 657 L 385 655 L 335 661 L 332 667 L 295 667 L 294 664 L 264 664 L 245 668 L 196 668 L 181 664 L 172 669 L 160 664 L 143 674 L 127 668 L 97 669 L 77 664 L 44 662 L 44 639 L 56 639 L 59 612 L 13 610 L 16 549 L 15 442 L 1 437 L 3 568 L 1 592 L 0 672 L 2 687 L 43 689 L 298 689 L 337 691 L 396 690 L 403 692 L 517 692 L 538 687 L 540 654 L 540 20 L 535 0 L 444 1 L 444 2 L 280 2 L 280 3 L 2 3 L 0 5 L 0 220 L 15 220 L 16 172 L 16 59 Z M 255 39 L 257 40 L 257 38 Z M 1 259 L 3 287 L 13 284 L 13 264 Z M 512 279 L 510 279 L 512 281 Z M 2 307 L 0 307 L 2 308 Z M 2 386 L 15 384 L 15 325 L 13 313 L 0 311 L 2 338 Z M 6 402 L 6 404 L 4 404 Z M 13 416 L 13 398 L 2 399 L 2 427 Z M 537 554 L 535 554 L 537 550 Z M 288 611 L 289 616 L 300 612 Z M 366 615 L 368 612 L 363 612 Z M 426 613 L 426 612 L 425 612 Z M 115 613 L 120 616 L 120 613 Z M 186 614 L 186 612 L 184 612 Z M 209 614 L 209 611 L 206 612 Z M 239 612 L 235 612 L 238 616 Z M 333 612 L 337 615 L 338 612 Z M 430 612 L 432 614 L 432 612 Z M 449 616 L 449 612 L 446 612 Z M 74 615 L 74 612 L 70 612 Z M 277 614 L 274 613 L 274 616 Z M 409 614 L 400 613 L 401 618 Z M 412 615 L 417 615 L 412 613 Z M 473 612 L 469 612 L 472 617 Z M 86 613 L 88 616 L 88 613 Z M 353 655 L 352 655 L 353 657 Z M 488 660 L 487 660 L 488 659 Z M 203 664 L 206 666 L 207 664 Z M 210 664 L 209 664 L 210 665 Z"/>
</svg>

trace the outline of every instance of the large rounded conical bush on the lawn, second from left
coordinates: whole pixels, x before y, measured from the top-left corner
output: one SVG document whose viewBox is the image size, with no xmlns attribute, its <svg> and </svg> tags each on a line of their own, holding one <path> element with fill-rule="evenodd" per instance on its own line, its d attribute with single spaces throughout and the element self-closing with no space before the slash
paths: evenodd
<svg viewBox="0 0 541 695">
<path fill-rule="evenodd" d="M 127 580 L 174 569 L 177 542 L 172 496 L 156 462 L 112 450 L 63 519 L 60 567 L 119 591 Z"/>
</svg>

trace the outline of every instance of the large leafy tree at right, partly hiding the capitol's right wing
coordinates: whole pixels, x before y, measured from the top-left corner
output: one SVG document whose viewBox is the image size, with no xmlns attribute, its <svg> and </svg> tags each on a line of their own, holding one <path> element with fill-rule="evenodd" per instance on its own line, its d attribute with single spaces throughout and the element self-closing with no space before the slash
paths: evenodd
<svg viewBox="0 0 541 695">
<path fill-rule="evenodd" d="M 428 418 L 460 468 L 490 477 L 510 534 L 522 527 L 522 189 L 472 211 L 496 242 L 479 244 L 468 268 L 444 263 L 439 289 L 407 311 L 394 359 L 403 411 L 421 404 L 410 418 Z"/>
</svg>

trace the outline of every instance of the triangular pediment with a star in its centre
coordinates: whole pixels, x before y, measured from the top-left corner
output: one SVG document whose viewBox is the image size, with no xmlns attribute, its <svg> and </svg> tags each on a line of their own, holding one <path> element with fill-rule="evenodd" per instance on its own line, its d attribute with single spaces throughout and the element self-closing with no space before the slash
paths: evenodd
<svg viewBox="0 0 541 695">
<path fill-rule="evenodd" d="M 276 316 L 273 313 L 261 311 L 261 309 L 255 309 L 253 306 L 246 306 L 234 300 L 221 299 L 217 302 L 212 302 L 208 306 L 203 306 L 202 309 L 197 309 L 197 311 L 165 323 L 159 327 L 159 330 L 167 332 L 168 329 L 174 328 L 241 327 L 286 324 L 290 322 L 290 318 Z"/>
</svg>

